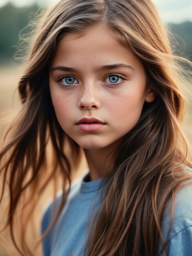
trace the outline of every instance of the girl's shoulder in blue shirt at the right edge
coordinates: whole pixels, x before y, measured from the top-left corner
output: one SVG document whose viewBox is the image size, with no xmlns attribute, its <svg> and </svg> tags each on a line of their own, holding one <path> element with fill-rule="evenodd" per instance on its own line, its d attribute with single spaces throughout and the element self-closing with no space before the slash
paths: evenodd
<svg viewBox="0 0 192 256">
<path fill-rule="evenodd" d="M 185 168 L 192 172 L 191 168 Z M 163 220 L 163 238 L 170 227 L 170 204 Z M 192 184 L 179 189 L 174 202 L 172 228 L 168 237 L 167 256 L 191 256 L 192 252 Z"/>
</svg>

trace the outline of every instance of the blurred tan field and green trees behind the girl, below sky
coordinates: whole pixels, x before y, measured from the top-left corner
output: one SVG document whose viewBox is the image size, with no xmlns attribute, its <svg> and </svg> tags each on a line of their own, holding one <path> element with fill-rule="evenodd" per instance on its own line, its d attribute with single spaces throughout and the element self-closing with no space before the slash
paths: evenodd
<svg viewBox="0 0 192 256">
<path fill-rule="evenodd" d="M 33 4 L 28 7 L 15 7 L 8 3 L 0 8 L 0 133 L 2 136 L 7 130 L 5 126 L 6 119 L 10 119 L 14 113 L 19 109 L 20 102 L 18 97 L 18 81 L 22 75 L 22 67 L 19 67 L 20 61 L 15 61 L 13 55 L 16 52 L 19 33 L 27 26 L 29 20 L 33 19 L 34 13 L 39 9 L 39 5 Z M 7 18 L 9 17 L 9 18 Z M 170 23 L 169 27 L 174 32 L 174 37 L 178 41 L 175 52 L 177 54 L 185 54 L 192 61 L 192 22 L 182 22 L 179 24 Z M 25 29 L 22 34 L 25 34 Z M 191 55 L 191 56 L 190 56 Z M 18 65 L 19 64 L 19 65 Z M 192 141 L 192 79 L 188 78 L 190 85 L 188 88 L 183 88 L 183 92 L 188 100 L 188 109 L 185 117 L 185 131 L 188 139 Z M 4 127 L 4 129 L 3 129 Z M 83 173 L 86 163 L 80 164 L 79 169 L 74 174 L 74 179 Z M 51 198 L 51 186 L 46 190 L 45 195 L 41 198 L 40 204 L 36 211 L 36 221 L 34 229 L 36 232 L 31 233 L 29 229 L 29 243 L 32 244 L 34 238 L 40 232 L 40 218 L 45 205 Z M 19 232 L 19 231 L 18 231 Z M 17 256 L 14 249 L 11 249 L 11 242 L 7 234 L 6 250 L 0 246 L 0 256 Z M 10 247 L 8 249 L 8 247 Z M 6 252 L 7 251 L 7 252 Z M 41 256 L 41 248 L 38 248 L 36 256 Z"/>
</svg>

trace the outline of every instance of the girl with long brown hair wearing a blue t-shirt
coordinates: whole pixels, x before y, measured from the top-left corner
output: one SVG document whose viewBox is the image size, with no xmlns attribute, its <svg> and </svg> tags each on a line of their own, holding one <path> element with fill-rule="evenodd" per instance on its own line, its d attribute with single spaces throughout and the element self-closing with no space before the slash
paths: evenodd
<svg viewBox="0 0 192 256">
<path fill-rule="evenodd" d="M 60 0 L 45 14 L 19 83 L 22 115 L 0 154 L 13 241 L 19 202 L 24 212 L 60 173 L 62 193 L 42 217 L 44 256 L 191 255 L 177 61 L 150 0 Z M 66 144 L 89 166 L 72 184 Z M 36 255 L 24 237 L 20 254 Z"/>
</svg>

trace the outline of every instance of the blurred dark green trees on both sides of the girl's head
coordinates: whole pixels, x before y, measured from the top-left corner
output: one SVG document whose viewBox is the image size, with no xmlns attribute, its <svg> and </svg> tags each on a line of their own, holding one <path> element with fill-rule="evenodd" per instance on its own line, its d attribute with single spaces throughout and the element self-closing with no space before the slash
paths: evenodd
<svg viewBox="0 0 192 256">
<path fill-rule="evenodd" d="M 0 8 L 0 65 L 10 63 L 10 59 L 17 49 L 20 31 L 28 25 L 29 20 L 33 20 L 38 9 L 36 4 L 18 8 L 11 3 Z M 192 61 L 192 22 L 168 24 L 168 26 L 174 32 L 174 38 L 179 43 L 176 45 L 173 41 L 176 45 L 174 52 L 180 56 L 181 53 L 184 53 Z M 21 34 L 26 32 L 25 29 Z"/>
</svg>

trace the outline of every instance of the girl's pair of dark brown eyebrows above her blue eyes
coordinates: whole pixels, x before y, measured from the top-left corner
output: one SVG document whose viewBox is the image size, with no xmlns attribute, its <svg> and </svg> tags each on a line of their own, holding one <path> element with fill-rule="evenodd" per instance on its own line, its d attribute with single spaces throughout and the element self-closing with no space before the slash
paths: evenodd
<svg viewBox="0 0 192 256">
<path fill-rule="evenodd" d="M 102 72 L 102 71 L 106 71 L 106 70 L 112 70 L 112 69 L 115 69 L 115 68 L 135 70 L 132 66 L 127 65 L 125 63 L 116 63 L 116 64 L 104 65 L 104 66 L 100 66 L 100 67 L 97 66 L 96 68 L 93 69 L 93 72 L 97 73 L 97 72 Z M 74 67 L 65 67 L 65 66 L 62 66 L 62 65 L 61 66 L 53 67 L 51 69 L 51 72 L 53 72 L 55 70 L 79 73 L 79 70 L 76 70 Z"/>
</svg>

